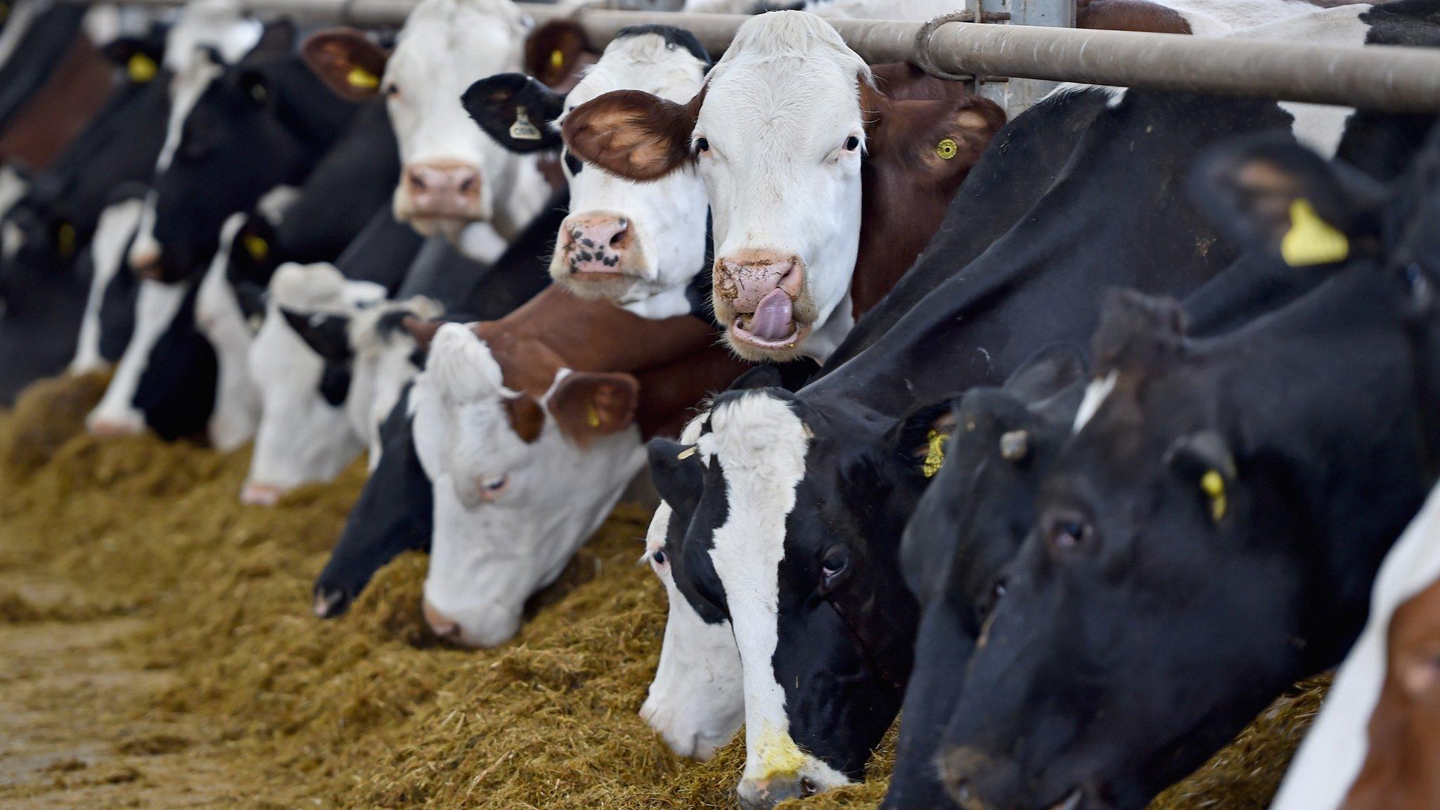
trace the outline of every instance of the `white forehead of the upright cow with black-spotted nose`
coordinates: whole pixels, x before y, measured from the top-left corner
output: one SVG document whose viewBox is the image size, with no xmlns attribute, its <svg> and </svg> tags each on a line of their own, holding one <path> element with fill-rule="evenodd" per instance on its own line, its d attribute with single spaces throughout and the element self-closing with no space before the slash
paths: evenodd
<svg viewBox="0 0 1440 810">
<path fill-rule="evenodd" d="M 573 110 L 615 89 L 642 89 L 684 104 L 700 92 L 704 76 L 704 62 L 658 33 L 626 36 L 605 48 L 600 61 L 566 97 L 566 108 Z"/>
</svg>

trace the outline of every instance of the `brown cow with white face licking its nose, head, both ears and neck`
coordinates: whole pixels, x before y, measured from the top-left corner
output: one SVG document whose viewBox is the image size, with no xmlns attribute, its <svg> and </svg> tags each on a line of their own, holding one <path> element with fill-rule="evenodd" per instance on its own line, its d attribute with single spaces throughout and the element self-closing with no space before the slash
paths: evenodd
<svg viewBox="0 0 1440 810">
<path fill-rule="evenodd" d="M 824 359 L 904 272 L 1004 123 L 960 85 L 917 82 L 914 98 L 886 95 L 829 23 L 778 12 L 740 26 L 688 102 L 612 91 L 569 111 L 562 134 L 579 159 L 632 180 L 693 166 L 727 344 L 750 360 Z M 887 161 L 876 180 L 888 182 L 863 195 L 867 167 Z M 861 245 L 865 216 L 881 219 L 867 223 L 873 245 Z"/>
</svg>

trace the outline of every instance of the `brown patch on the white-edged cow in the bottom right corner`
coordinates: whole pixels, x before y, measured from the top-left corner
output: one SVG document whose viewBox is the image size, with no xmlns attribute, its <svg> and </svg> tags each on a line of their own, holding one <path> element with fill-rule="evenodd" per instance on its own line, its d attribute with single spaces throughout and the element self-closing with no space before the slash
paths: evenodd
<svg viewBox="0 0 1440 810">
<path fill-rule="evenodd" d="M 1342 810 L 1440 807 L 1440 582 L 1390 618 L 1369 751 Z"/>
</svg>

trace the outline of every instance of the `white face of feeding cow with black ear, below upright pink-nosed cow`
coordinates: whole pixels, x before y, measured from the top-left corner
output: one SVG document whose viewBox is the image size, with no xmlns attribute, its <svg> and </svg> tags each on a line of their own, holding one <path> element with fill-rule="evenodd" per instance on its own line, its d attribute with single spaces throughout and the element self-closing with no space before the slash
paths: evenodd
<svg viewBox="0 0 1440 810">
<path fill-rule="evenodd" d="M 265 323 L 251 343 L 251 379 L 261 392 L 261 424 L 240 499 L 272 504 L 301 484 L 333 480 L 364 448 L 343 404 L 320 393 L 324 362 L 285 323 L 279 308 L 346 314 L 376 303 L 384 288 L 347 281 L 328 264 L 285 264 L 269 285 Z"/>
</svg>

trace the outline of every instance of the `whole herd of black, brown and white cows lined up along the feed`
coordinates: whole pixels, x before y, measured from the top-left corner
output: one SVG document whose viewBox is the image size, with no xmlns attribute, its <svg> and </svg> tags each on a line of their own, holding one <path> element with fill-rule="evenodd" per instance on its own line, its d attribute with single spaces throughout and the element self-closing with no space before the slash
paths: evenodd
<svg viewBox="0 0 1440 810">
<path fill-rule="evenodd" d="M 1061 85 L 1007 121 L 827 22 L 956 6 L 811 0 L 711 61 L 664 13 L 595 53 L 510 0 L 22 0 L 0 401 L 109 368 L 92 434 L 252 442 L 256 507 L 366 453 L 314 614 L 423 549 L 471 647 L 648 467 L 641 715 L 696 758 L 743 726 L 752 810 L 897 716 L 887 809 L 1138 810 L 1335 666 L 1274 807 L 1440 807 L 1434 117 Z M 1440 0 L 1077 13 L 1440 46 Z"/>
</svg>

